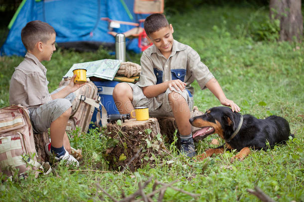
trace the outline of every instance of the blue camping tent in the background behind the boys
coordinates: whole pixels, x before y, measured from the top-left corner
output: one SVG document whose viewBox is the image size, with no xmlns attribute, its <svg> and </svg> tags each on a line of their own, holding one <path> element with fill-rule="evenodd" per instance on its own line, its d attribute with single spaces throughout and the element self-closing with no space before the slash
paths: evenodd
<svg viewBox="0 0 304 202">
<path fill-rule="evenodd" d="M 108 34 L 108 21 L 137 22 L 144 16 L 133 12 L 134 0 L 23 0 L 10 25 L 8 36 L 1 47 L 1 55 L 25 55 L 21 29 L 31 20 L 49 23 L 56 31 L 56 42 L 64 48 L 96 50 L 100 45 L 114 50 L 115 37 Z M 125 32 L 134 26 L 121 24 L 116 32 Z M 127 49 L 140 52 L 138 39 L 128 40 Z"/>
</svg>

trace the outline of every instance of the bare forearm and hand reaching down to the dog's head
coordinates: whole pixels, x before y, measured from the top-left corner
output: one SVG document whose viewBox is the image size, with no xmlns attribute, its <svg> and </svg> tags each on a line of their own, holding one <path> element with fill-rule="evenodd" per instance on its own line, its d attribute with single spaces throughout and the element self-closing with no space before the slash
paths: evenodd
<svg viewBox="0 0 304 202">
<path fill-rule="evenodd" d="M 220 84 L 217 82 L 215 78 L 210 79 L 206 83 L 206 87 L 217 97 L 217 99 L 221 102 L 222 105 L 231 107 L 231 110 L 234 112 L 241 111 L 240 107 L 235 104 L 232 100 L 226 98 Z"/>
</svg>

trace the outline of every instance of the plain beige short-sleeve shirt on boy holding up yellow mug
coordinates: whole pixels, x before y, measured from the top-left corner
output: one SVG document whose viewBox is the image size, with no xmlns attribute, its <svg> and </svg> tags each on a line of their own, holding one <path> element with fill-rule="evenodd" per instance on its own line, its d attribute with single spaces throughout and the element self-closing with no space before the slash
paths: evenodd
<svg viewBox="0 0 304 202">
<path fill-rule="evenodd" d="M 9 103 L 32 108 L 52 100 L 47 88 L 46 68 L 37 57 L 27 52 L 15 67 L 9 85 Z"/>
</svg>

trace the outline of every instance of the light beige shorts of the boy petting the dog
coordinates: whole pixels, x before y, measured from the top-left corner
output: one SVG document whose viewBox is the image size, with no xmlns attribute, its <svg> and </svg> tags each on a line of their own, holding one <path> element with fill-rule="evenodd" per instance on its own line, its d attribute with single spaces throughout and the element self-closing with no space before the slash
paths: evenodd
<svg viewBox="0 0 304 202">
<path fill-rule="evenodd" d="M 169 88 L 157 97 L 147 98 L 141 87 L 136 84 L 128 83 L 133 89 L 133 101 L 134 107 L 149 107 L 149 114 L 151 116 L 173 116 L 172 108 L 168 100 L 168 95 L 172 92 Z M 189 110 L 193 108 L 193 97 L 189 95 L 187 90 L 178 91 L 174 89 L 175 92 L 183 96 L 187 101 Z"/>
</svg>

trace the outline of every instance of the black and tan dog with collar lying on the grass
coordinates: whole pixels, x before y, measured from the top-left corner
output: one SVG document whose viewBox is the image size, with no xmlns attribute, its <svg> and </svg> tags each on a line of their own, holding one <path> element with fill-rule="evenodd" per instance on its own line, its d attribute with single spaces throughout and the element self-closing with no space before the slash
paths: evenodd
<svg viewBox="0 0 304 202">
<path fill-rule="evenodd" d="M 252 149 L 267 149 L 270 146 L 284 143 L 289 136 L 290 127 L 286 119 L 279 116 L 270 116 L 266 119 L 257 119 L 249 114 L 241 115 L 232 112 L 229 107 L 213 107 L 203 115 L 189 119 L 192 126 L 201 128 L 193 134 L 193 139 L 204 138 L 217 133 L 225 144 L 218 148 L 208 149 L 204 154 L 196 156 L 196 160 L 203 160 L 213 154 L 224 152 L 227 149 L 236 149 L 239 153 L 234 159 L 243 160 Z"/>
</svg>

